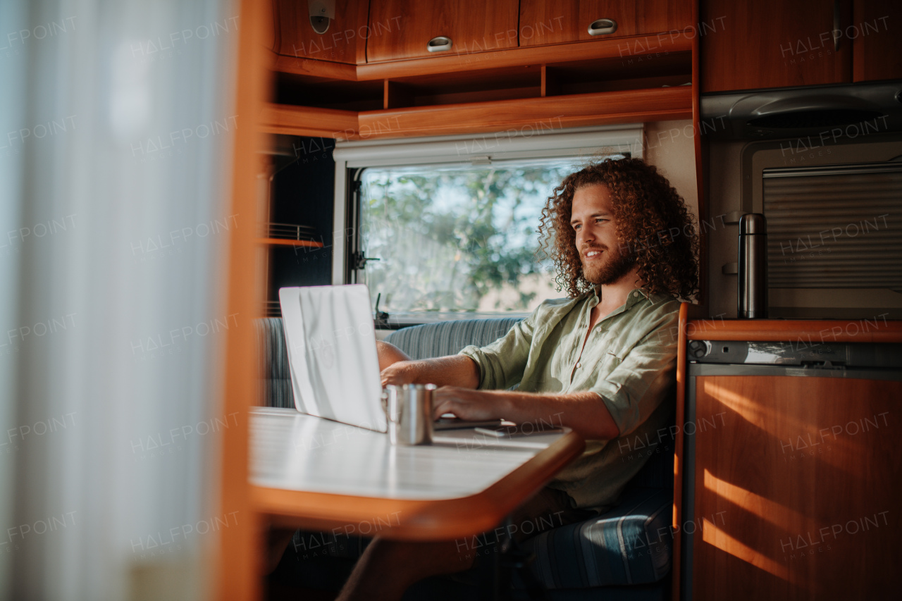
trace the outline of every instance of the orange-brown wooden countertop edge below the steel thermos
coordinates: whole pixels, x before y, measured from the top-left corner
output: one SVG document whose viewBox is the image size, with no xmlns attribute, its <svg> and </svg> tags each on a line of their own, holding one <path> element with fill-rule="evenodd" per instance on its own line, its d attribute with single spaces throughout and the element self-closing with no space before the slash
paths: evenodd
<svg viewBox="0 0 902 601">
<path fill-rule="evenodd" d="M 902 321 L 869 319 L 696 319 L 690 340 L 782 340 L 805 345 L 832 342 L 902 342 Z"/>
</svg>

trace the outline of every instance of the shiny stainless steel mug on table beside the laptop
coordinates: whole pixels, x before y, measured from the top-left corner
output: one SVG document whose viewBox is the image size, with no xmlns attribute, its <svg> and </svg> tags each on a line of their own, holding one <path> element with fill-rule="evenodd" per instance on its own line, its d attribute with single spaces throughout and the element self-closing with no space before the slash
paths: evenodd
<svg viewBox="0 0 902 601">
<path fill-rule="evenodd" d="M 435 384 L 389 384 L 382 391 L 382 408 L 393 445 L 432 443 L 432 392 Z"/>
</svg>

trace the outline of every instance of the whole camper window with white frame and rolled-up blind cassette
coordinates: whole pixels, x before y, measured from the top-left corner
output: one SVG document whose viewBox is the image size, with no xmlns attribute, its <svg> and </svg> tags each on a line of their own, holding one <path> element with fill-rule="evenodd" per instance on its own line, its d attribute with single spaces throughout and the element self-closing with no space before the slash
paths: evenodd
<svg viewBox="0 0 902 601">
<path fill-rule="evenodd" d="M 390 324 L 525 316 L 565 295 L 537 254 L 548 196 L 590 159 L 641 157 L 642 136 L 627 124 L 336 142 L 332 282 L 366 283 Z"/>
</svg>

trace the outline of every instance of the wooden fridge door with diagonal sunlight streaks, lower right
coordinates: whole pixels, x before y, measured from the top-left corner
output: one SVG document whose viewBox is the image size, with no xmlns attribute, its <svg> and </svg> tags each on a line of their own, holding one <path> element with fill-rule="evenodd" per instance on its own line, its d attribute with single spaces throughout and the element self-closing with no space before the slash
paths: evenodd
<svg viewBox="0 0 902 601">
<path fill-rule="evenodd" d="M 897 596 L 902 383 L 696 385 L 693 598 Z"/>
</svg>

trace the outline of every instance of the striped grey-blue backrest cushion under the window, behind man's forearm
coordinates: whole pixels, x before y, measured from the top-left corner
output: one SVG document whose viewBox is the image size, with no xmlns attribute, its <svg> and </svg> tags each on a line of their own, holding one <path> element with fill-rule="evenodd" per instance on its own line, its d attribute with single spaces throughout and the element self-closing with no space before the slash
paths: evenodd
<svg viewBox="0 0 902 601">
<path fill-rule="evenodd" d="M 508 333 L 521 318 L 457 319 L 402 328 L 385 338 L 411 359 L 456 355 L 467 345 L 484 347 Z"/>
</svg>

